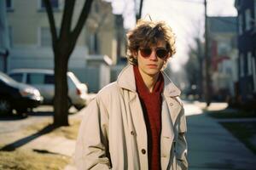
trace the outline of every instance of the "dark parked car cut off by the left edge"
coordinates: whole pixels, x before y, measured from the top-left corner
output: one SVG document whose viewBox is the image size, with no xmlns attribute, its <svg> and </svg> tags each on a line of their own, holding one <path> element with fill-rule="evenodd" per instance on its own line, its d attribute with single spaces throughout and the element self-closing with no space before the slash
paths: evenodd
<svg viewBox="0 0 256 170">
<path fill-rule="evenodd" d="M 11 114 L 13 109 L 18 114 L 28 108 L 35 108 L 43 101 L 37 88 L 16 82 L 0 71 L 0 113 Z"/>
</svg>

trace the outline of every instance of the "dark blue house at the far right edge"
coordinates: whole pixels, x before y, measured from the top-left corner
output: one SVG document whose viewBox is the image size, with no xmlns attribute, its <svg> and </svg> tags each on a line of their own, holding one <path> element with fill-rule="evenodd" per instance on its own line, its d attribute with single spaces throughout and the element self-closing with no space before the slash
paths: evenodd
<svg viewBox="0 0 256 170">
<path fill-rule="evenodd" d="M 239 93 L 256 99 L 256 0 L 236 0 L 238 12 Z"/>
</svg>

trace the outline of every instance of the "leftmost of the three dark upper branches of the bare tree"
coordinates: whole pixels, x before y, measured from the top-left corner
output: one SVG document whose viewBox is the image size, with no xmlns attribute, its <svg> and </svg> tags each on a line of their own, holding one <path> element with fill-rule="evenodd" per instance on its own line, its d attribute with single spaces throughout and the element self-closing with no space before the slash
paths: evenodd
<svg viewBox="0 0 256 170">
<path fill-rule="evenodd" d="M 49 0 L 44 0 L 44 4 L 45 4 L 45 8 L 46 8 L 46 12 L 48 15 L 48 19 L 49 19 L 49 27 L 50 27 L 50 32 L 51 32 L 51 36 L 52 36 L 52 45 L 53 48 L 55 49 L 55 43 L 57 42 L 57 33 L 56 33 L 56 26 L 55 26 L 55 18 L 53 15 L 53 10 L 51 8 L 51 4 L 49 3 Z"/>
</svg>

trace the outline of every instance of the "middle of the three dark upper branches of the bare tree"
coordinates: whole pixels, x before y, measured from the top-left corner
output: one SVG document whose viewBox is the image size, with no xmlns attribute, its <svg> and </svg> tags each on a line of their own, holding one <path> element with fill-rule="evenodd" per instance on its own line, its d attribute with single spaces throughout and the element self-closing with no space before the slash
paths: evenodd
<svg viewBox="0 0 256 170">
<path fill-rule="evenodd" d="M 67 38 L 71 31 L 73 8 L 76 0 L 66 0 L 61 20 L 60 38 Z"/>
</svg>

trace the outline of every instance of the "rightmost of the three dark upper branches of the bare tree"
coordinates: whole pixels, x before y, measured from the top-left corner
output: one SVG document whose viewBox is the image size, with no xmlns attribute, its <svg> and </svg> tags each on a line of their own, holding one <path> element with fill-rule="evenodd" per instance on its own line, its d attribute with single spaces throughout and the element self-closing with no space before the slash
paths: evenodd
<svg viewBox="0 0 256 170">
<path fill-rule="evenodd" d="M 92 4 L 93 0 L 86 0 L 84 2 L 84 7 L 82 8 L 81 14 L 79 16 L 79 20 L 77 22 L 77 25 L 75 26 L 73 32 L 72 32 L 72 43 L 73 46 L 75 45 L 76 40 L 79 37 L 79 34 L 81 30 L 84 27 L 85 20 L 87 20 L 88 15 L 90 14 L 90 6 Z"/>
</svg>

